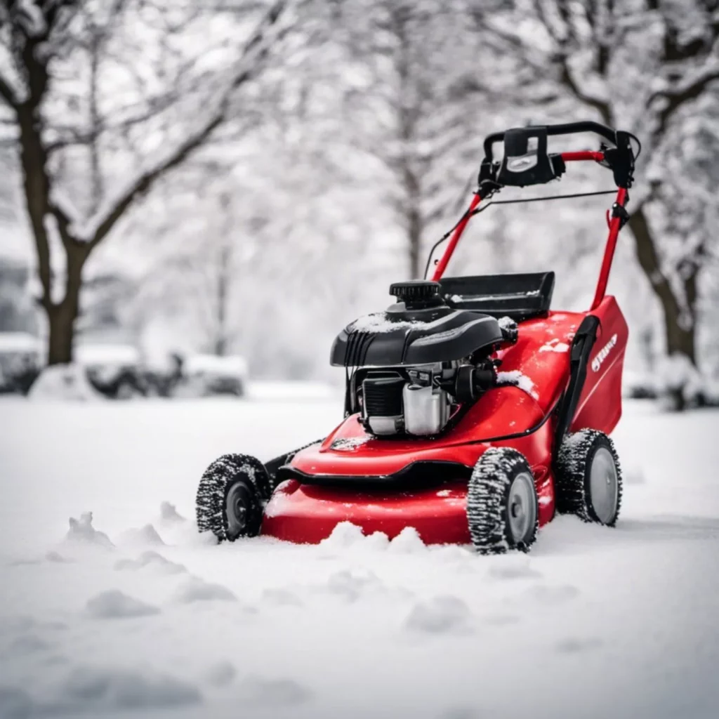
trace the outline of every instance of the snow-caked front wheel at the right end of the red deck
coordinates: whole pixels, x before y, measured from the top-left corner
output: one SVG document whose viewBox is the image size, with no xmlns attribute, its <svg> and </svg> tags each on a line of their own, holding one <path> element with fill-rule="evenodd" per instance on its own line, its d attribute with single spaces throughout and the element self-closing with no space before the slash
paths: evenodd
<svg viewBox="0 0 719 719">
<path fill-rule="evenodd" d="M 480 554 L 528 551 L 539 522 L 534 477 L 523 454 L 490 447 L 477 460 L 467 491 L 467 521 Z"/>
</svg>

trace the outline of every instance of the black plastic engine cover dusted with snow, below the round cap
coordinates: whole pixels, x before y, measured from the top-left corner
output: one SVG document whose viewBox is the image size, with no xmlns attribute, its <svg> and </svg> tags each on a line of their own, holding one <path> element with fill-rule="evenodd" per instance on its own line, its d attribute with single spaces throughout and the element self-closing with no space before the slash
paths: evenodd
<svg viewBox="0 0 719 719">
<path fill-rule="evenodd" d="M 429 365 L 469 357 L 502 342 L 494 317 L 446 305 L 408 310 L 398 303 L 360 317 L 332 344 L 330 362 L 340 367 Z"/>
</svg>

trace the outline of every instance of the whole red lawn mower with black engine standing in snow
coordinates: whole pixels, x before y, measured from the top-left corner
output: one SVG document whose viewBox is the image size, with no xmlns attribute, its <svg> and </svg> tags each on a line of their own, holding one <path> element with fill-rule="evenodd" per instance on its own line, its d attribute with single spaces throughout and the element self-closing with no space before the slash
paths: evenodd
<svg viewBox="0 0 719 719">
<path fill-rule="evenodd" d="M 599 134 L 601 149 L 547 152 L 549 136 L 578 132 Z M 198 488 L 199 530 L 316 543 L 349 521 L 365 533 L 392 538 L 413 527 L 427 544 L 471 542 L 498 554 L 528 549 L 557 511 L 613 526 L 622 482 L 608 434 L 621 415 L 628 329 L 605 290 L 628 220 L 632 140 L 596 122 L 487 137 L 479 186 L 440 240 L 449 243 L 431 281 L 391 285 L 393 305 L 335 339 L 331 364 L 347 373 L 342 423 L 266 464 L 246 454 L 216 459 Z M 551 272 L 443 276 L 472 216 L 536 199 L 490 197 L 558 179 L 580 161 L 612 170 L 618 188 L 607 191 L 616 198 L 588 311 L 550 310 Z M 592 194 L 603 193 L 582 196 Z"/>
</svg>

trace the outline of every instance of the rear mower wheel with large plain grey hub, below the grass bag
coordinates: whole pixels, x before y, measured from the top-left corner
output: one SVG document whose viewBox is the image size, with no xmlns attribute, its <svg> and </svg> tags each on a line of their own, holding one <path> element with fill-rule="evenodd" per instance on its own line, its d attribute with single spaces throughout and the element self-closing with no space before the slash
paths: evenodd
<svg viewBox="0 0 719 719">
<path fill-rule="evenodd" d="M 622 472 L 614 443 L 597 429 L 562 441 L 555 476 L 557 511 L 613 527 L 622 503 Z"/>
</svg>

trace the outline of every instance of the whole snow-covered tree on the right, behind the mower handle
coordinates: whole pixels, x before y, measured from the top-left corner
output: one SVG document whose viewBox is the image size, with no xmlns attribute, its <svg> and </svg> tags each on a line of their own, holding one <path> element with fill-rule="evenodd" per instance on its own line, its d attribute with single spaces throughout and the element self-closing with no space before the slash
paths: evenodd
<svg viewBox="0 0 719 719">
<path fill-rule="evenodd" d="M 697 365 L 700 275 L 718 240 L 719 3 L 514 0 L 476 6 L 477 27 L 601 122 L 643 143 L 631 219 L 638 264 L 661 303 L 665 351 Z M 566 112 L 566 109 L 565 109 Z M 648 181 L 646 181 L 648 180 Z M 682 398 L 677 397 L 677 403 Z"/>
</svg>

